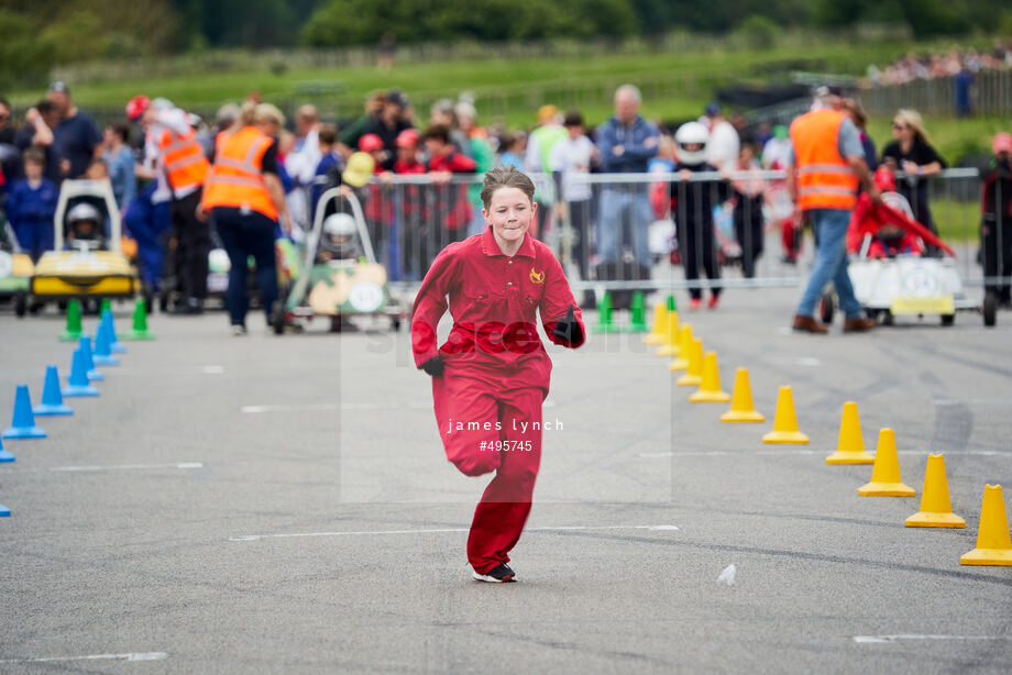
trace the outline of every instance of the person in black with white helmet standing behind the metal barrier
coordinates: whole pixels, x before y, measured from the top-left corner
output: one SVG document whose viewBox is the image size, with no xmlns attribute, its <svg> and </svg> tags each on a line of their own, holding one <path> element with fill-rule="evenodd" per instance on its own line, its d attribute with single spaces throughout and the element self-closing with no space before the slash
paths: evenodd
<svg viewBox="0 0 1012 675">
<path fill-rule="evenodd" d="M 710 132 L 700 122 L 682 124 L 674 135 L 678 143 L 679 182 L 672 187 L 671 212 L 678 224 L 679 250 L 685 264 L 685 280 L 700 278 L 700 265 L 711 281 L 711 297 L 707 307 L 716 309 L 721 298 L 721 266 L 714 248 L 713 207 L 726 197 L 724 182 L 718 180 L 693 180 L 693 174 L 715 171 L 706 162 L 706 143 Z M 697 310 L 703 301 L 703 289 L 689 289 L 689 309 Z"/>
</svg>

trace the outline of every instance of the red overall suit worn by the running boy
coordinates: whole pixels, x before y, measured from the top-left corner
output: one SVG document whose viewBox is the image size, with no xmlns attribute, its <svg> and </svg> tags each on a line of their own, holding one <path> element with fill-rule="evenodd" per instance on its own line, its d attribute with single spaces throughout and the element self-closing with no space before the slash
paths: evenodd
<svg viewBox="0 0 1012 675">
<path fill-rule="evenodd" d="M 448 295 L 453 329 L 437 350 L 436 327 Z M 552 335 L 571 306 L 573 294 L 548 246 L 528 233 L 507 257 L 491 226 L 447 246 L 415 299 L 415 364 L 437 355 L 446 362 L 443 374 L 432 378 L 432 398 L 447 458 L 468 476 L 496 472 L 468 538 L 468 561 L 480 574 L 509 562 L 530 513 L 541 461 L 541 403 L 551 375 L 535 312 L 540 310 L 552 342 L 575 348 L 582 338 Z M 583 329 L 580 308 L 574 316 Z"/>
</svg>

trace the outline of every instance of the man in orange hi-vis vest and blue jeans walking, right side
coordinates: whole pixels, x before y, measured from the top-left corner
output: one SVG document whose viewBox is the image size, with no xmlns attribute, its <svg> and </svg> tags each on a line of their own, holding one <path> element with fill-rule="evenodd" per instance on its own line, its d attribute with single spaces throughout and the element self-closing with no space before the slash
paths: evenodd
<svg viewBox="0 0 1012 675">
<path fill-rule="evenodd" d="M 794 313 L 792 328 L 807 333 L 828 329 L 815 318 L 815 305 L 831 280 L 844 311 L 844 332 L 867 331 L 875 321 L 865 318 L 847 274 L 846 235 L 850 212 L 864 186 L 875 203 L 882 195 L 875 186 L 854 122 L 840 111 L 839 91 L 821 88 L 811 112 L 791 124 L 793 157 L 788 167 L 788 189 L 795 218 L 812 219 L 815 230 L 815 265 Z"/>
</svg>

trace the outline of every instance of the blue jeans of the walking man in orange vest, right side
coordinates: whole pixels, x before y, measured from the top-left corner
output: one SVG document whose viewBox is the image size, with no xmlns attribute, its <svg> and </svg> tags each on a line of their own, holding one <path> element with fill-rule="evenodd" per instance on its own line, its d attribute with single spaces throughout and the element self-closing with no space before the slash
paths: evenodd
<svg viewBox="0 0 1012 675">
<path fill-rule="evenodd" d="M 812 217 L 812 226 L 815 230 L 815 265 L 809 285 L 798 303 L 798 313 L 811 317 L 815 313 L 815 305 L 826 284 L 833 281 L 839 307 L 848 319 L 858 319 L 864 316 L 861 305 L 854 297 L 854 286 L 850 275 L 847 274 L 847 225 L 850 224 L 850 211 L 843 209 L 813 209 L 809 211 Z"/>
</svg>

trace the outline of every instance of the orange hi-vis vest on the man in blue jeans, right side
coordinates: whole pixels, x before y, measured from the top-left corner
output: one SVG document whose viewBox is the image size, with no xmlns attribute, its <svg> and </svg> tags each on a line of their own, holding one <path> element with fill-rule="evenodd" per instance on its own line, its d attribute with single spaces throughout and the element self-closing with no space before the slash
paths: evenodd
<svg viewBox="0 0 1012 675">
<path fill-rule="evenodd" d="M 798 206 L 850 211 L 857 203 L 858 177 L 838 148 L 845 113 L 813 110 L 791 124 L 798 167 Z"/>
</svg>

